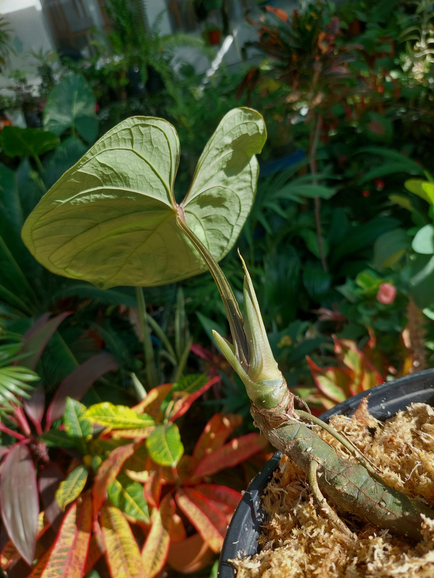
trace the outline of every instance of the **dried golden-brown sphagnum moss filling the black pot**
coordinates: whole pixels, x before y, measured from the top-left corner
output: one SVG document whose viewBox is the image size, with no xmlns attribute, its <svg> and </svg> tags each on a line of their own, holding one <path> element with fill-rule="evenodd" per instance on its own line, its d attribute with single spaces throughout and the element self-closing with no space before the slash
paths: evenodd
<svg viewBox="0 0 434 578">
<path fill-rule="evenodd" d="M 330 425 L 363 451 L 389 486 L 434 505 L 432 407 L 413 403 L 381 424 L 363 404 L 351 418 L 333 417 Z M 354 459 L 328 433 L 315 431 L 341 455 Z M 433 520 L 424 518 L 424 540 L 410 544 L 355 518 L 342 517 L 354 532 L 349 538 L 330 523 L 306 476 L 286 456 L 262 502 L 269 521 L 259 539 L 261 552 L 233 561 L 237 578 L 434 577 Z"/>
</svg>

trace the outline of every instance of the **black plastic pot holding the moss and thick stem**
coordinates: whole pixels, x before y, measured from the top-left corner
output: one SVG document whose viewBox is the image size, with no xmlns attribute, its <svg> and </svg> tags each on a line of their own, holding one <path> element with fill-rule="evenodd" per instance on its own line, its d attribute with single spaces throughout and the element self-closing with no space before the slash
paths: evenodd
<svg viewBox="0 0 434 578">
<path fill-rule="evenodd" d="M 406 409 L 413 402 L 434 406 L 434 369 L 426 369 L 373 387 L 372 390 L 364 391 L 339 403 L 323 413 L 321 419 L 329 421 L 330 417 L 336 414 L 351 415 L 364 397 L 368 398 L 370 413 L 382 421 L 394 416 L 399 410 Z M 228 560 L 259 552 L 260 525 L 265 515 L 260 505 L 260 497 L 273 476 L 279 459 L 280 452 L 277 451 L 253 479 L 238 504 L 220 554 L 219 578 L 234 578 L 235 571 Z"/>
</svg>

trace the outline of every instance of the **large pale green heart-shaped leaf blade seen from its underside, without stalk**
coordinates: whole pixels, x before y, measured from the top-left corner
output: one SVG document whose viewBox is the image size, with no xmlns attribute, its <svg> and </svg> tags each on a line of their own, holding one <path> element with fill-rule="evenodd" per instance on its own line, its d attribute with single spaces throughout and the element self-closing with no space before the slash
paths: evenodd
<svg viewBox="0 0 434 578">
<path fill-rule="evenodd" d="M 197 275 L 205 264 L 176 216 L 185 215 L 214 258 L 222 259 L 251 210 L 259 172 L 255 154 L 265 139 L 258 112 L 227 113 L 178 207 L 174 127 L 161 118 L 128 118 L 44 195 L 24 224 L 24 242 L 53 273 L 103 288 L 159 286 Z"/>
</svg>

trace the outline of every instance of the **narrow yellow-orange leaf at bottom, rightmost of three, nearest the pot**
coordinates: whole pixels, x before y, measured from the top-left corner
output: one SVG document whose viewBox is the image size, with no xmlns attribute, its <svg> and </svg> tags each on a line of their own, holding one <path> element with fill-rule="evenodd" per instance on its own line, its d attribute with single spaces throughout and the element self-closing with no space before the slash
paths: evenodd
<svg viewBox="0 0 434 578">
<path fill-rule="evenodd" d="M 161 501 L 160 509 L 155 508 L 151 514 L 152 525 L 142 550 L 144 578 L 156 576 L 167 560 L 175 508 L 174 499 L 167 494 Z"/>
</svg>

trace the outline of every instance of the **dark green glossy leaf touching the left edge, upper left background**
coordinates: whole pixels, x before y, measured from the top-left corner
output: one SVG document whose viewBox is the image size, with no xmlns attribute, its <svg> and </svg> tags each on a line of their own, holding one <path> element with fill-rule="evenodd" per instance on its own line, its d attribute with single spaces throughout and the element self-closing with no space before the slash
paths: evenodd
<svg viewBox="0 0 434 578">
<path fill-rule="evenodd" d="M 0 146 L 8 157 L 37 157 L 59 144 L 57 135 L 38 128 L 5 127 L 0 133 Z"/>
</svg>

